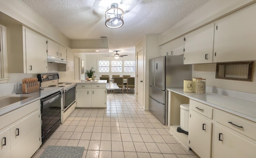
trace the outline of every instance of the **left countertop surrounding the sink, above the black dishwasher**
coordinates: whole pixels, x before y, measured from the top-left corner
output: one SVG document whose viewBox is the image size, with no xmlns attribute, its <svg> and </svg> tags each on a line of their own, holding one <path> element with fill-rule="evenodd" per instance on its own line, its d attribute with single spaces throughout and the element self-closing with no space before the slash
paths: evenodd
<svg viewBox="0 0 256 158">
<path fill-rule="evenodd" d="M 46 96 L 49 96 L 50 94 L 53 94 L 55 92 L 58 92 L 62 90 L 62 88 L 42 88 L 36 92 L 32 92 L 32 93 L 29 93 L 29 94 L 18 94 L 18 93 L 14 93 L 14 94 L 10 94 L 10 95 L 7 95 L 7 96 L 2 96 L 0 97 L 0 100 L 3 99 L 3 98 L 7 98 L 7 97 L 10 97 L 10 96 L 14 96 L 14 97 L 22 97 L 22 96 L 26 96 L 26 97 L 32 97 L 32 98 L 28 98 L 26 100 L 23 100 L 23 101 L 20 101 L 20 102 L 16 102 L 14 104 L 10 104 L 10 105 L 7 105 L 7 106 L 4 106 L 2 108 L 0 108 L 0 116 L 2 114 L 5 114 L 7 112 L 10 112 L 12 110 L 15 110 L 17 108 L 20 108 L 26 104 L 29 104 L 31 102 L 34 102 L 36 100 L 39 100 L 39 99 L 42 99 Z"/>
</svg>

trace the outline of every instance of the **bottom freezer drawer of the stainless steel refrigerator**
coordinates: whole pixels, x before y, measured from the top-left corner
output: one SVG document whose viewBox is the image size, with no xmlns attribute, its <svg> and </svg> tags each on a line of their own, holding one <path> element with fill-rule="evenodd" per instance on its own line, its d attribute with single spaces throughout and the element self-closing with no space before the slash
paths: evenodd
<svg viewBox="0 0 256 158">
<path fill-rule="evenodd" d="M 162 124 L 165 124 L 165 104 L 161 104 L 149 96 L 148 108 L 151 114 Z"/>
</svg>

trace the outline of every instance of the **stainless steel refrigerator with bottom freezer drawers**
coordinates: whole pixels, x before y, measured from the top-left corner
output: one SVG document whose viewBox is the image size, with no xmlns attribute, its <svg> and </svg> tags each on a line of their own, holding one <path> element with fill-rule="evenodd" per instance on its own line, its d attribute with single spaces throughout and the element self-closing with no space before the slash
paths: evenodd
<svg viewBox="0 0 256 158">
<path fill-rule="evenodd" d="M 164 125 L 168 123 L 168 88 L 183 88 L 192 79 L 192 65 L 183 64 L 183 55 L 149 60 L 149 111 Z"/>
</svg>

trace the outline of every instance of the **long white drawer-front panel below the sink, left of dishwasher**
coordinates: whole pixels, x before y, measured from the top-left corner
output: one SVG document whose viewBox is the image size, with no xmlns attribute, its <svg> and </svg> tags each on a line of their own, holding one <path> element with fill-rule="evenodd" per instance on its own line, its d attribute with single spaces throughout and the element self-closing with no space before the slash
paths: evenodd
<svg viewBox="0 0 256 158">
<path fill-rule="evenodd" d="M 2 116 L 0 116 L 0 129 L 8 126 L 9 124 L 12 124 L 16 120 L 19 120 L 20 118 L 30 114 L 31 112 L 38 110 L 40 105 L 40 100 L 37 100 L 35 102 L 32 102 L 30 104 L 27 104 L 25 106 L 22 106 L 18 109 L 15 109 L 11 112 L 8 112 Z"/>
</svg>

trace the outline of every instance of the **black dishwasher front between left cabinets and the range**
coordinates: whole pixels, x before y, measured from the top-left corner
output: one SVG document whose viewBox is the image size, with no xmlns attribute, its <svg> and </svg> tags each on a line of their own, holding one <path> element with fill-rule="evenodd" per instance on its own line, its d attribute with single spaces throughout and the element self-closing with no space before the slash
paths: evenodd
<svg viewBox="0 0 256 158">
<path fill-rule="evenodd" d="M 41 99 L 42 143 L 44 143 L 61 124 L 62 92 Z"/>
</svg>

